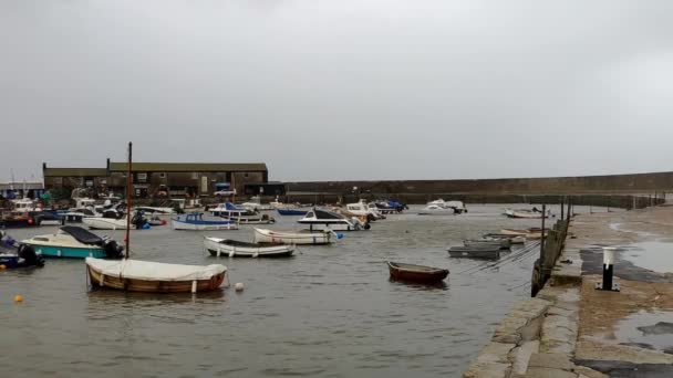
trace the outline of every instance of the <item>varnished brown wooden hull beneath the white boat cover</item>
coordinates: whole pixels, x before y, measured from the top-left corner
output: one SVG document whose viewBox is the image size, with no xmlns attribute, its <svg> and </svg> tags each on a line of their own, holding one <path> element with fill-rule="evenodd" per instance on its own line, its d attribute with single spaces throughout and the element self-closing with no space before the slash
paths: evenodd
<svg viewBox="0 0 673 378">
<path fill-rule="evenodd" d="M 91 265 L 86 265 L 86 270 L 92 286 L 141 293 L 191 293 L 195 281 L 196 292 L 211 292 L 219 290 L 227 275 L 227 272 L 224 272 L 209 280 L 155 281 L 107 275 Z"/>
</svg>

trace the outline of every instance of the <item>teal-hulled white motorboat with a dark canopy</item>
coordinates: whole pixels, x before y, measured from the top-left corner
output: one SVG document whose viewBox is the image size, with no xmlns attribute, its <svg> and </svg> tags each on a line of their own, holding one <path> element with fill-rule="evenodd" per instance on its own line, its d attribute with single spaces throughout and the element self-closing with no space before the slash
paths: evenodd
<svg viewBox="0 0 673 378">
<path fill-rule="evenodd" d="M 37 235 L 21 243 L 45 258 L 122 259 L 124 248 L 110 238 L 101 238 L 81 227 L 64 225 L 58 233 Z"/>
</svg>

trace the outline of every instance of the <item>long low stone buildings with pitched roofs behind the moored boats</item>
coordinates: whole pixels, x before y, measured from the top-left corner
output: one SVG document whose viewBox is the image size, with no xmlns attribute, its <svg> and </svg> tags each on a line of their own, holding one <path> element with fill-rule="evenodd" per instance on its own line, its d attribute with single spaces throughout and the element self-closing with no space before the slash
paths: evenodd
<svg viewBox="0 0 673 378">
<path fill-rule="evenodd" d="M 247 183 L 266 182 L 263 162 L 133 162 L 133 192 L 136 198 L 208 197 L 216 191 L 242 193 Z M 107 159 L 105 168 L 52 168 L 42 165 L 44 188 L 87 188 L 93 193 L 126 191 L 126 162 Z"/>
</svg>

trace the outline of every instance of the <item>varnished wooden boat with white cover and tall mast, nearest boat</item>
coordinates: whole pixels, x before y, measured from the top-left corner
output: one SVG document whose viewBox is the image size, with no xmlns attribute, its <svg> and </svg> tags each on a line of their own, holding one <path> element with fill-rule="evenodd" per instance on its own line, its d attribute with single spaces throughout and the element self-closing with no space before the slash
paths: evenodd
<svg viewBox="0 0 673 378">
<path fill-rule="evenodd" d="M 166 264 L 124 259 L 118 261 L 86 258 L 86 271 L 93 286 L 128 292 L 196 293 L 221 286 L 227 267 Z"/>
</svg>

